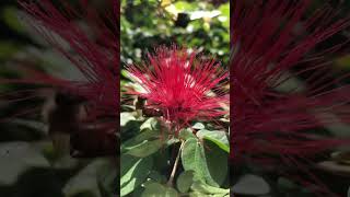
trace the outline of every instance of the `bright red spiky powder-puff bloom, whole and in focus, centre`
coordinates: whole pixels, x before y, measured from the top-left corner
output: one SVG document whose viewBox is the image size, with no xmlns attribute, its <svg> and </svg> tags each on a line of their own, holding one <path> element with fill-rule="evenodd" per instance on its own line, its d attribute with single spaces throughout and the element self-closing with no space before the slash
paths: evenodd
<svg viewBox="0 0 350 197">
<path fill-rule="evenodd" d="M 127 67 L 143 91 L 133 91 L 147 101 L 145 107 L 159 111 L 171 129 L 189 126 L 191 120 L 211 120 L 225 114 L 225 91 L 220 83 L 226 72 L 214 60 L 206 60 L 187 49 L 160 47 L 149 61 Z M 224 83 L 224 82 L 223 82 Z"/>
</svg>

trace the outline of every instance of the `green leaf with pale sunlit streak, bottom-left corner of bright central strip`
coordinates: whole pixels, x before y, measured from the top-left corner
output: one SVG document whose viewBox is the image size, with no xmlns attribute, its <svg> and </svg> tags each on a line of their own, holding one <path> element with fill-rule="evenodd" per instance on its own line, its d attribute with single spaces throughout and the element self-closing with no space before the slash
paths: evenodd
<svg viewBox="0 0 350 197">
<path fill-rule="evenodd" d="M 153 165 L 152 158 L 122 154 L 120 159 L 120 196 L 130 194 L 144 183 Z"/>
</svg>

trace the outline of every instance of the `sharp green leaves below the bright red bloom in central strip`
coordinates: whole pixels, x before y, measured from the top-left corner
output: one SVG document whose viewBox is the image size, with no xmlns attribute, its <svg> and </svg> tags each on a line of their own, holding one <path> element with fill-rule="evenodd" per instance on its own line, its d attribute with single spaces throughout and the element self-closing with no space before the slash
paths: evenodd
<svg viewBox="0 0 350 197">
<path fill-rule="evenodd" d="M 167 183 L 175 160 L 172 155 L 174 151 L 177 152 L 179 140 L 174 140 L 171 131 L 158 118 L 136 115 L 132 118 L 131 113 L 124 113 L 120 121 L 122 125 L 141 123 L 138 129 L 131 129 L 138 130 L 135 136 L 121 143 L 121 196 L 139 193 L 142 196 L 229 194 L 229 189 L 222 188 L 228 186 L 228 134 L 203 128 L 194 135 L 190 129 L 183 129 L 178 137 L 184 143 L 180 150 L 182 166 L 177 166 L 174 183 Z M 195 125 L 197 128 L 202 126 Z"/>
</svg>

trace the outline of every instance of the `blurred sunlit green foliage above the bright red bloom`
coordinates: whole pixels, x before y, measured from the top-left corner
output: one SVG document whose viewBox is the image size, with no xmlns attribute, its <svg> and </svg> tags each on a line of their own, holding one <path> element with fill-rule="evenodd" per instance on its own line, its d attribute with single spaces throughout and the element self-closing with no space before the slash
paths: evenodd
<svg viewBox="0 0 350 197">
<path fill-rule="evenodd" d="M 140 62 L 159 45 L 177 44 L 229 61 L 230 3 L 206 1 L 121 1 L 121 61 Z M 142 14 L 138 14 L 142 13 Z M 145 16 L 147 15 L 147 16 Z"/>
</svg>

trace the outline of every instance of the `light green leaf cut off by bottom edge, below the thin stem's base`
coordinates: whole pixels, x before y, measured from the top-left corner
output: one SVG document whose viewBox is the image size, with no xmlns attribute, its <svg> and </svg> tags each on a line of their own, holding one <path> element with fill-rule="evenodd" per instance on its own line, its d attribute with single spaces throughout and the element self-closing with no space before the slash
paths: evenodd
<svg viewBox="0 0 350 197">
<path fill-rule="evenodd" d="M 159 183 L 150 183 L 145 185 L 144 192 L 141 197 L 178 197 L 178 193 L 167 186 L 163 186 Z"/>
</svg>

